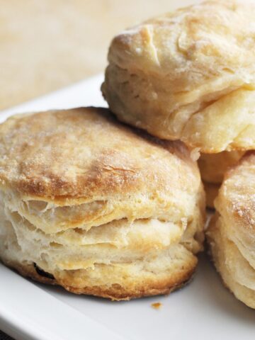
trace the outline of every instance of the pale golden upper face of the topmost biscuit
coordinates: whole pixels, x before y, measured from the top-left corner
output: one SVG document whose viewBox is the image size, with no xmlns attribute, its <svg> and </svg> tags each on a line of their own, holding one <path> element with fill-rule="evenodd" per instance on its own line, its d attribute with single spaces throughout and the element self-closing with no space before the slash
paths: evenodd
<svg viewBox="0 0 255 340">
<path fill-rule="evenodd" d="M 237 1 L 181 8 L 117 35 L 109 61 L 170 78 L 175 92 L 198 89 L 221 76 L 249 84 L 255 70 L 254 16 L 255 6 Z"/>
</svg>

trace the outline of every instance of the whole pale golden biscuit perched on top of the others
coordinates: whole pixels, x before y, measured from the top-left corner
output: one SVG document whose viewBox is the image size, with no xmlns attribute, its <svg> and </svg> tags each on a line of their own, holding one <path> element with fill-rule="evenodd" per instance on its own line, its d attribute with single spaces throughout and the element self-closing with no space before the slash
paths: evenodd
<svg viewBox="0 0 255 340">
<path fill-rule="evenodd" d="M 205 1 L 111 42 L 103 96 L 117 117 L 203 153 L 255 147 L 255 6 Z"/>
</svg>

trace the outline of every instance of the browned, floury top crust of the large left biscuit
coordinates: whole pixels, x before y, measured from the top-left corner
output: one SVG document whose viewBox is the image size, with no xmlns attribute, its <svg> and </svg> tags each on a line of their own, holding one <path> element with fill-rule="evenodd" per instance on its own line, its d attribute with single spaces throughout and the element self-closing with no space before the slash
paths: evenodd
<svg viewBox="0 0 255 340">
<path fill-rule="evenodd" d="M 131 130 L 107 109 L 76 108 L 1 124 L 0 183 L 30 196 L 96 200 L 196 193 L 200 176 L 181 142 Z"/>
</svg>

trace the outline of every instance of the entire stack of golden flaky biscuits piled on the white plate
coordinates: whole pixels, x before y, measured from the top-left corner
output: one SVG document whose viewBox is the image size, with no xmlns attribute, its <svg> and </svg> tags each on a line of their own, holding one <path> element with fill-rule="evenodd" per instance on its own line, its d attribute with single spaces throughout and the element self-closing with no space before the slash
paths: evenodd
<svg viewBox="0 0 255 340">
<path fill-rule="evenodd" d="M 206 200 L 215 266 L 255 307 L 254 16 L 206 1 L 125 30 L 101 87 L 109 110 L 0 125 L 1 260 L 73 293 L 170 293 L 195 271 Z"/>
</svg>

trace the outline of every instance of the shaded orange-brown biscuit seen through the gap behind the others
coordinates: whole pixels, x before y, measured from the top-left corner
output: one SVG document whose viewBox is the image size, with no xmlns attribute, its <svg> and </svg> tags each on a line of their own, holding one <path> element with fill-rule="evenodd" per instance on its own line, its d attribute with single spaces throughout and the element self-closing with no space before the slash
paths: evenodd
<svg viewBox="0 0 255 340">
<path fill-rule="evenodd" d="M 225 172 L 231 166 L 237 164 L 244 155 L 243 151 L 223 151 L 218 154 L 201 154 L 198 159 L 201 178 L 203 180 L 208 208 L 214 208 L 214 200 L 217 196 Z"/>
</svg>

